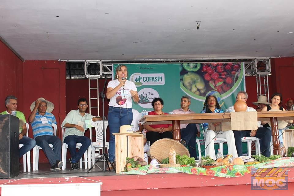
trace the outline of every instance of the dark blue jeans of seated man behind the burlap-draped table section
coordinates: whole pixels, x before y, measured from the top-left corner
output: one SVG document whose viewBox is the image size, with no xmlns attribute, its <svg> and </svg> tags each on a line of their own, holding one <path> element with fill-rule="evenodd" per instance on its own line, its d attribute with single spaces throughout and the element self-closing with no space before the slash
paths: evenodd
<svg viewBox="0 0 294 196">
<path fill-rule="evenodd" d="M 250 137 L 250 130 L 245 131 L 233 131 L 235 138 L 235 145 L 237 149 L 238 156 L 242 156 L 242 138 Z M 262 139 L 262 144 L 260 145 L 260 152 L 262 155 L 269 157 L 270 156 L 270 140 L 272 138 L 272 133 L 268 128 L 259 127 L 256 131 L 256 138 Z"/>
</svg>

